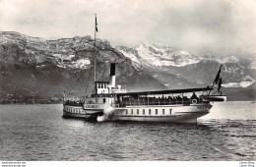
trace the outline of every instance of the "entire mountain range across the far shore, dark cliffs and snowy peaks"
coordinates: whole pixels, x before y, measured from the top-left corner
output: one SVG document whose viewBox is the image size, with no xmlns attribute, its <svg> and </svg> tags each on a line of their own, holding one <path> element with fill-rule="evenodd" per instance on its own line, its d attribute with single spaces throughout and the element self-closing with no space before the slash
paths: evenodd
<svg viewBox="0 0 256 167">
<path fill-rule="evenodd" d="M 60 102 L 63 91 L 84 96 L 94 88 L 94 39 L 75 36 L 45 40 L 0 32 L 0 102 Z M 116 64 L 116 83 L 128 91 L 211 85 L 221 64 L 229 100 L 254 100 L 256 61 L 241 55 L 198 56 L 160 43 L 134 48 L 96 39 L 96 81 L 107 81 Z"/>
</svg>

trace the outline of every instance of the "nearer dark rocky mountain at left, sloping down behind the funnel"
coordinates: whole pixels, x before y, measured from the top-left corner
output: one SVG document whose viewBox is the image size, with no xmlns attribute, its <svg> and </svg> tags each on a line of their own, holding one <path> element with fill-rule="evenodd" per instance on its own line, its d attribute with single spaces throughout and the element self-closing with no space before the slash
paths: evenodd
<svg viewBox="0 0 256 167">
<path fill-rule="evenodd" d="M 94 87 L 94 40 L 90 36 L 43 40 L 18 32 L 0 33 L 1 101 L 59 101 L 62 92 L 83 96 Z M 144 69 L 96 39 L 96 81 L 108 81 L 110 63 L 117 63 L 117 84 L 128 90 L 164 89 Z"/>
</svg>

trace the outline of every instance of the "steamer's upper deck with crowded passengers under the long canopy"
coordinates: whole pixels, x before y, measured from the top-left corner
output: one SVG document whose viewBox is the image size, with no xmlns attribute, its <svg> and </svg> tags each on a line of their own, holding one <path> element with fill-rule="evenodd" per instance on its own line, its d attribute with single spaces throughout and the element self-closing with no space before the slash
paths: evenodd
<svg viewBox="0 0 256 167">
<path fill-rule="evenodd" d="M 112 107 L 141 106 L 141 105 L 190 105 L 208 103 L 195 92 L 210 91 L 213 88 L 187 88 L 158 91 L 138 91 L 126 93 L 96 93 L 87 97 L 86 101 L 69 101 L 66 105 L 83 106 L 83 104 L 110 104 Z M 189 95 L 190 93 L 190 95 Z M 193 95 L 191 95 L 193 93 Z"/>
</svg>

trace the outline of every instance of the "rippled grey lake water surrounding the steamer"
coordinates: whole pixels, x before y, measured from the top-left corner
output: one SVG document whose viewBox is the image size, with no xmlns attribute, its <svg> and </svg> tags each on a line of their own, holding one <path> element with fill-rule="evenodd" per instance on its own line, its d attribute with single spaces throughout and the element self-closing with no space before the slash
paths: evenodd
<svg viewBox="0 0 256 167">
<path fill-rule="evenodd" d="M 62 118 L 61 104 L 0 105 L 0 160 L 255 160 L 256 105 L 215 103 L 197 125 Z"/>
</svg>

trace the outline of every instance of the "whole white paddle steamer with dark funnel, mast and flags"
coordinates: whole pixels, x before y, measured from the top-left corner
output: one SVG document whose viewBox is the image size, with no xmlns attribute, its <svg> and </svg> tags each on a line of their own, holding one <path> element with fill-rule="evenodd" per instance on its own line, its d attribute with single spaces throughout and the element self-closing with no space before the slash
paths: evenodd
<svg viewBox="0 0 256 167">
<path fill-rule="evenodd" d="M 222 66 L 211 87 L 127 92 L 121 89 L 121 85 L 115 85 L 115 65 L 110 64 L 109 81 L 96 82 L 95 62 L 94 93 L 79 101 L 70 100 L 64 94 L 63 117 L 97 121 L 196 123 L 199 117 L 210 112 L 215 101 L 226 100 L 222 93 L 211 94 L 215 83 L 219 83 L 220 92 Z"/>
</svg>

